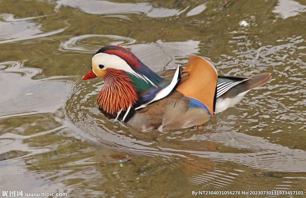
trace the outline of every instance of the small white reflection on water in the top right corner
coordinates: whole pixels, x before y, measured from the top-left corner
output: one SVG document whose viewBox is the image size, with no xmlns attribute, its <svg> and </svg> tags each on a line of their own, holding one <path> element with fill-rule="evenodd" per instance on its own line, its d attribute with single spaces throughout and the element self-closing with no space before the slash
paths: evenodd
<svg viewBox="0 0 306 198">
<path fill-rule="evenodd" d="M 306 6 L 301 5 L 299 2 L 292 0 L 279 0 L 277 6 L 275 6 L 273 13 L 277 13 L 283 19 L 293 17 L 301 12 L 306 12 Z"/>
</svg>

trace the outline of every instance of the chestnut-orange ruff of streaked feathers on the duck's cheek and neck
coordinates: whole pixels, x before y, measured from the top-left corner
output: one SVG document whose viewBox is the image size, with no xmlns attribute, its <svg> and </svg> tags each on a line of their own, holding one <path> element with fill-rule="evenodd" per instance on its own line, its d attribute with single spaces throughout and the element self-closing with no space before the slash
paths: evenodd
<svg viewBox="0 0 306 198">
<path fill-rule="evenodd" d="M 101 110 L 117 114 L 121 109 L 125 111 L 129 105 L 136 103 L 138 96 L 135 87 L 125 71 L 107 68 L 103 80 L 105 84 L 97 99 Z"/>
</svg>

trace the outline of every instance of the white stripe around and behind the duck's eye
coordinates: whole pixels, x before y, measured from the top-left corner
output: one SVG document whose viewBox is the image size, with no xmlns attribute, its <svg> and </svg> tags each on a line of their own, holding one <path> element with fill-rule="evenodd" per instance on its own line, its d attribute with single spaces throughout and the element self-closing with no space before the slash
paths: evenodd
<svg viewBox="0 0 306 198">
<path fill-rule="evenodd" d="M 146 81 L 148 84 L 151 83 L 155 87 L 157 87 L 154 83 L 151 82 L 146 76 L 136 73 L 129 64 L 125 62 L 122 58 L 120 58 L 117 55 L 114 54 L 105 54 L 105 53 L 99 53 L 95 54 L 92 59 L 92 69 L 95 72 L 95 69 L 100 69 L 99 65 L 104 65 L 104 68 L 114 68 L 114 69 L 120 69 L 124 70 L 138 78 L 141 78 L 142 80 Z M 104 69 L 103 68 L 103 69 Z"/>
</svg>

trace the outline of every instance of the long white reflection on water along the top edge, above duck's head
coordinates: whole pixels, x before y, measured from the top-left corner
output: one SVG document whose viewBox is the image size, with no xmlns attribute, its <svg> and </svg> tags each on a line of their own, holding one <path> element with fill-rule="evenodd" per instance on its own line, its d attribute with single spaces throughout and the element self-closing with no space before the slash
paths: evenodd
<svg viewBox="0 0 306 198">
<path fill-rule="evenodd" d="M 114 13 L 145 13 L 149 17 L 170 17 L 179 15 L 184 10 L 155 8 L 149 3 L 117 3 L 97 0 L 61 0 L 57 2 L 56 9 L 61 6 L 79 8 L 90 14 L 114 14 Z"/>
</svg>

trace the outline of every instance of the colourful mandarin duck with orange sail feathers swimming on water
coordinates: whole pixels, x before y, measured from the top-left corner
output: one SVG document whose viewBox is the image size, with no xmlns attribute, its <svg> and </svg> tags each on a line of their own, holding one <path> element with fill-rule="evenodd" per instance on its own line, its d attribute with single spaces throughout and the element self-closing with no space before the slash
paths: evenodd
<svg viewBox="0 0 306 198">
<path fill-rule="evenodd" d="M 205 124 L 270 75 L 218 76 L 209 58 L 194 55 L 185 67 L 155 73 L 124 47 L 106 46 L 95 53 L 82 80 L 104 81 L 97 103 L 111 121 L 140 131 L 167 131 Z"/>
</svg>

